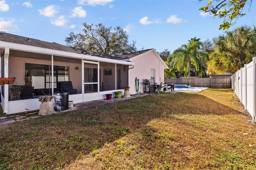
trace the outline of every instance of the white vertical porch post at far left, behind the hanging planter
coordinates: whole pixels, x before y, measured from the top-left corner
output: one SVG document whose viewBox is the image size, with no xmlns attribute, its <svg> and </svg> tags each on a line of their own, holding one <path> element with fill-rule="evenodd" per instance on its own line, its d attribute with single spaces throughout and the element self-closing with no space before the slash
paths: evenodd
<svg viewBox="0 0 256 170">
<path fill-rule="evenodd" d="M 4 49 L 4 77 L 9 77 L 9 71 L 8 71 L 8 63 L 9 63 L 9 54 L 10 49 L 5 48 Z M 4 85 L 4 114 L 8 114 L 9 112 L 9 89 L 8 84 Z"/>
</svg>

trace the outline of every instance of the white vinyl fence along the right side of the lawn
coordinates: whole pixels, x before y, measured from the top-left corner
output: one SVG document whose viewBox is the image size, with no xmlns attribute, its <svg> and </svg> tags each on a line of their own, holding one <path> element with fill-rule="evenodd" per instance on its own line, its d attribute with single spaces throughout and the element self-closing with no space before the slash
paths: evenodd
<svg viewBox="0 0 256 170">
<path fill-rule="evenodd" d="M 256 57 L 232 75 L 232 89 L 250 115 L 256 119 Z"/>
</svg>

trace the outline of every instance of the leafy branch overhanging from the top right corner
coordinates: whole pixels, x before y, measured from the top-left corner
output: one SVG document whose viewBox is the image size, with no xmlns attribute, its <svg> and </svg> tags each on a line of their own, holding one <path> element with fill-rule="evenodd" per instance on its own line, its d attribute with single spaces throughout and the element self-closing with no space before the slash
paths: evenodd
<svg viewBox="0 0 256 170">
<path fill-rule="evenodd" d="M 199 2 L 202 1 L 199 0 Z M 199 10 L 210 12 L 214 17 L 224 18 L 219 30 L 225 30 L 233 25 L 232 21 L 234 19 L 236 20 L 245 15 L 242 13 L 245 6 L 248 6 L 248 10 L 250 10 L 251 5 L 252 0 L 210 0 L 206 6 L 201 7 Z"/>
</svg>

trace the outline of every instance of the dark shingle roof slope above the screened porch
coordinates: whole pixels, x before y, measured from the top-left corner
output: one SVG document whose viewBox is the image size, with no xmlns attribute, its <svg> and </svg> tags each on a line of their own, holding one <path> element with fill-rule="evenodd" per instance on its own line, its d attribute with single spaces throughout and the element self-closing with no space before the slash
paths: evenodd
<svg viewBox="0 0 256 170">
<path fill-rule="evenodd" d="M 32 39 L 32 38 L 16 36 L 13 34 L 8 34 L 8 33 L 3 33 L 3 32 L 0 33 L 0 41 L 10 42 L 10 43 L 18 43 L 18 44 L 23 44 L 23 45 L 30 45 L 30 46 L 34 46 L 34 47 L 42 47 L 42 48 L 47 48 L 47 49 L 55 49 L 55 50 L 59 50 L 59 51 L 91 55 L 91 56 L 96 56 L 96 57 L 116 59 L 112 55 L 95 53 L 92 51 L 87 51 L 87 50 L 83 50 L 83 49 L 78 49 L 78 48 L 74 48 L 74 47 L 61 45 L 61 44 L 58 44 L 55 42 L 52 42 L 52 43 L 44 42 L 44 41 L 40 41 L 40 40 L 36 40 L 36 39 Z"/>
</svg>

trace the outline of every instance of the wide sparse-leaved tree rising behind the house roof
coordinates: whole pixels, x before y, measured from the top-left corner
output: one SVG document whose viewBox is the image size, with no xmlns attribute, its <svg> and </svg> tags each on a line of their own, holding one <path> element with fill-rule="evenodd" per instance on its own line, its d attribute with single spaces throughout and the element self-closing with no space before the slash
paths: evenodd
<svg viewBox="0 0 256 170">
<path fill-rule="evenodd" d="M 84 28 L 81 33 L 71 32 L 69 37 L 66 37 L 68 46 L 114 56 L 137 51 L 136 42 L 128 44 L 128 35 L 120 26 L 112 29 L 101 23 L 95 27 L 85 22 L 82 25 Z"/>
</svg>

